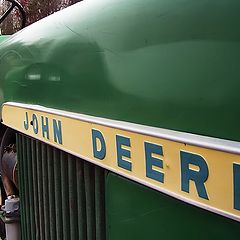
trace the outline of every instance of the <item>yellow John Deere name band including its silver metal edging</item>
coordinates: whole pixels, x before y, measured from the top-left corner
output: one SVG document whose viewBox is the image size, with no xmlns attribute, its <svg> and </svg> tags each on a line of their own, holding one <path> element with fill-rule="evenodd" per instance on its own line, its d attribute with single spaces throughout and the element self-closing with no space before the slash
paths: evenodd
<svg viewBox="0 0 240 240">
<path fill-rule="evenodd" d="M 26 121 L 26 116 L 28 121 Z M 28 136 L 177 199 L 240 221 L 240 211 L 234 209 L 233 206 L 233 164 L 240 164 L 239 143 L 237 142 L 168 130 L 160 131 L 158 128 L 18 103 L 4 104 L 2 119 L 3 124 Z M 47 121 L 48 134 L 46 131 L 44 134 L 43 125 L 46 125 Z M 58 132 L 54 131 L 54 126 L 55 131 Z M 93 154 L 93 129 L 99 131 L 105 140 L 106 154 L 102 160 L 97 159 Z M 144 132 L 142 129 L 145 129 Z M 123 157 L 123 159 L 131 163 L 131 171 L 118 164 L 117 135 L 128 138 L 131 143 L 130 147 L 122 145 L 123 149 L 130 152 L 130 158 Z M 164 174 L 163 183 L 146 176 L 146 149 L 144 148 L 146 142 L 162 147 L 163 156 L 152 154 L 152 157 L 161 160 L 163 168 L 153 166 L 152 169 Z M 101 149 L 99 140 L 97 146 L 98 150 Z M 206 161 L 209 177 L 204 186 L 209 200 L 199 196 L 195 183 L 191 180 L 189 193 L 181 189 L 181 151 L 198 155 Z M 196 166 L 192 169 L 198 171 Z"/>
</svg>

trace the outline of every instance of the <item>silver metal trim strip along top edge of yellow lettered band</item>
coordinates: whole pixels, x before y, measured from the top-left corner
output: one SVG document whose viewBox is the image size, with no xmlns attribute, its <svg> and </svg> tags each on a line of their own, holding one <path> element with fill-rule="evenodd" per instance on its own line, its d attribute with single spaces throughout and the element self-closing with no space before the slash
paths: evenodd
<svg viewBox="0 0 240 240">
<path fill-rule="evenodd" d="M 99 125 L 118 128 L 121 130 L 126 130 L 129 132 L 135 132 L 140 134 L 145 134 L 153 137 L 159 137 L 171 141 L 182 142 L 185 144 L 190 144 L 198 147 L 204 147 L 208 149 L 214 149 L 229 153 L 240 154 L 240 142 L 219 139 L 214 137 L 201 136 L 192 133 L 178 132 L 169 129 L 149 127 L 146 125 L 140 125 L 136 123 L 129 123 L 118 120 L 111 120 L 102 117 L 94 117 L 90 115 L 68 112 L 63 110 L 58 110 L 54 108 L 47 108 L 40 105 L 16 103 L 16 102 L 6 102 L 3 106 L 15 106 L 20 108 L 27 108 L 30 110 L 42 111 L 50 114 L 56 114 L 62 117 L 68 117 L 72 119 L 77 119 L 85 122 L 96 123 Z"/>
</svg>

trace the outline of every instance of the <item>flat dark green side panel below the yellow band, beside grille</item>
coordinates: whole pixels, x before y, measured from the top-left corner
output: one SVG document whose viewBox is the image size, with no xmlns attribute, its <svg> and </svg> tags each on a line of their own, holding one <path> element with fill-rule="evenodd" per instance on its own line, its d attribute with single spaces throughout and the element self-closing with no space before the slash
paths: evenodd
<svg viewBox="0 0 240 240">
<path fill-rule="evenodd" d="M 107 239 L 235 240 L 239 223 L 109 174 Z"/>
</svg>

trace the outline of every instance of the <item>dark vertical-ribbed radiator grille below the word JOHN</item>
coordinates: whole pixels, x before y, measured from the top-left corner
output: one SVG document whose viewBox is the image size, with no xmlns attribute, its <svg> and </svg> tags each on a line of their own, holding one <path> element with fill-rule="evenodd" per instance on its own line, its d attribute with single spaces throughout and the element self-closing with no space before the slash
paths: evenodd
<svg viewBox="0 0 240 240">
<path fill-rule="evenodd" d="M 105 240 L 105 171 L 17 134 L 24 240 Z"/>
</svg>

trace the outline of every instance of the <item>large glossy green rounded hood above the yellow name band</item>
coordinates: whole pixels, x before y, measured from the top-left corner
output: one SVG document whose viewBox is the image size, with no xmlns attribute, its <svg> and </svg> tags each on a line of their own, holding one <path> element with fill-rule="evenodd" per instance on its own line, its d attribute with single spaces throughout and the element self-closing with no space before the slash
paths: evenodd
<svg viewBox="0 0 240 240">
<path fill-rule="evenodd" d="M 87 0 L 0 46 L 1 102 L 240 140 L 240 1 Z"/>
</svg>

